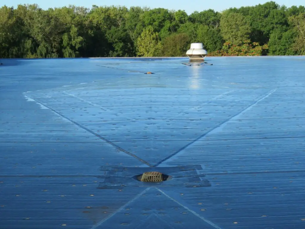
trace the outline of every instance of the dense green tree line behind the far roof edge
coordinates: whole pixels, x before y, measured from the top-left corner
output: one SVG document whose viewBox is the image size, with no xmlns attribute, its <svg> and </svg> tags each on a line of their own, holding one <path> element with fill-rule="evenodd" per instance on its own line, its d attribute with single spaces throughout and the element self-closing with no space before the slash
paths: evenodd
<svg viewBox="0 0 305 229">
<path fill-rule="evenodd" d="M 185 56 L 193 42 L 210 56 L 304 55 L 305 7 L 0 9 L 0 58 Z"/>
</svg>

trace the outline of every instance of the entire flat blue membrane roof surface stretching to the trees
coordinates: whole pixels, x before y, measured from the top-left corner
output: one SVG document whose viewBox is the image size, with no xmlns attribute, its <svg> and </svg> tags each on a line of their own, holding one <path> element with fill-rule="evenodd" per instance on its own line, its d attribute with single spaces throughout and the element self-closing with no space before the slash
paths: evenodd
<svg viewBox="0 0 305 229">
<path fill-rule="evenodd" d="M 2 60 L 0 228 L 305 228 L 305 57 L 187 61 Z"/>
</svg>

